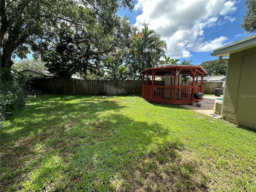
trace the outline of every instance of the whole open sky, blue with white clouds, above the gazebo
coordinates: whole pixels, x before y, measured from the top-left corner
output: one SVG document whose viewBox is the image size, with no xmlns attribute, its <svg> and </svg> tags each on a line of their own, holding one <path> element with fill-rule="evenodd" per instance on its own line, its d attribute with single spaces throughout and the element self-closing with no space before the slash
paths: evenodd
<svg viewBox="0 0 256 192">
<path fill-rule="evenodd" d="M 136 0 L 132 12 L 118 14 L 162 34 L 167 56 L 198 65 L 218 59 L 210 56 L 214 49 L 252 35 L 240 28 L 245 11 L 242 0 Z"/>
</svg>

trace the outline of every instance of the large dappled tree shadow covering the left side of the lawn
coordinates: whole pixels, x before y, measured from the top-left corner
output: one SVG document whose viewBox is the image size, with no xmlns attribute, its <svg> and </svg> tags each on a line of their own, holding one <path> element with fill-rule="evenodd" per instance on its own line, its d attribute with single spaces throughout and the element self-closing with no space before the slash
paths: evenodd
<svg viewBox="0 0 256 192">
<path fill-rule="evenodd" d="M 32 98 L 1 130 L 1 191 L 129 191 L 137 190 L 138 175 L 147 181 L 142 189 L 155 190 L 163 181 L 159 164 L 172 161 L 164 180 L 175 173 L 190 184 L 192 166 L 174 160 L 182 142 L 123 108 L 104 96 Z"/>
</svg>

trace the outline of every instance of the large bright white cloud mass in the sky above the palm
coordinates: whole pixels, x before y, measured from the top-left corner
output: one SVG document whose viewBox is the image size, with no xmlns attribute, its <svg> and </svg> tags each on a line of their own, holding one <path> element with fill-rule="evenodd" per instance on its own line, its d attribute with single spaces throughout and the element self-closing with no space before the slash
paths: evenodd
<svg viewBox="0 0 256 192">
<path fill-rule="evenodd" d="M 224 36 L 206 40 L 205 29 L 233 22 L 234 1 L 225 0 L 138 0 L 142 14 L 136 26 L 148 24 L 167 42 L 167 56 L 188 58 L 191 52 L 208 52 L 224 45 Z"/>
</svg>

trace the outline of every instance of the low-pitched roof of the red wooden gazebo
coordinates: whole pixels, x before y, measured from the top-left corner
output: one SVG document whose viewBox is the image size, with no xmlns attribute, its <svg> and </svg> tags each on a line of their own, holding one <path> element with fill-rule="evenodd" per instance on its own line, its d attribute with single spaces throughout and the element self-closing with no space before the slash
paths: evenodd
<svg viewBox="0 0 256 192">
<path fill-rule="evenodd" d="M 207 74 L 206 70 L 198 65 L 159 65 L 152 68 L 148 68 L 140 72 L 141 74 L 148 74 L 152 76 L 164 76 L 168 73 L 180 73 L 182 76 L 194 76 L 198 72 L 199 74 Z"/>
</svg>

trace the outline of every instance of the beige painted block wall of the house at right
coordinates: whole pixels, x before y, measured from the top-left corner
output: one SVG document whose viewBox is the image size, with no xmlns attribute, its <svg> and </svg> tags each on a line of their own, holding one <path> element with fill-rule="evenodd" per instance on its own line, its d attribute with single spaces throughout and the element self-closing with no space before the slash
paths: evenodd
<svg viewBox="0 0 256 192">
<path fill-rule="evenodd" d="M 256 48 L 230 54 L 222 115 L 256 130 Z"/>
</svg>

